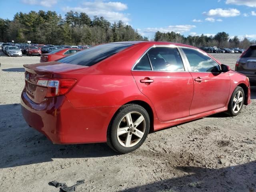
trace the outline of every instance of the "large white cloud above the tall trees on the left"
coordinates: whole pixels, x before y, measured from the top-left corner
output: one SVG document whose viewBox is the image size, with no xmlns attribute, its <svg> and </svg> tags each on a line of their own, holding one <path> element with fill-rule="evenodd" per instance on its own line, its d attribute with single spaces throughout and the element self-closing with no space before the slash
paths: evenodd
<svg viewBox="0 0 256 192">
<path fill-rule="evenodd" d="M 77 12 L 85 12 L 90 17 L 93 16 L 103 16 L 106 20 L 110 22 L 115 22 L 118 20 L 122 20 L 124 23 L 128 23 L 130 18 L 128 18 L 129 14 L 120 12 L 128 9 L 126 4 L 121 2 L 103 2 L 103 1 L 93 1 L 93 2 L 84 2 L 82 6 L 78 7 L 64 7 L 62 10 L 64 11 L 77 11 Z"/>
</svg>

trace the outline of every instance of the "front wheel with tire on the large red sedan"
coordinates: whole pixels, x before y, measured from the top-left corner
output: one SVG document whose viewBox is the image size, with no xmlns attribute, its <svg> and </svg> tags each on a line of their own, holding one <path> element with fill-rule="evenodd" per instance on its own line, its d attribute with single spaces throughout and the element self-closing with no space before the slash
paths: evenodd
<svg viewBox="0 0 256 192">
<path fill-rule="evenodd" d="M 228 103 L 227 113 L 229 116 L 232 116 L 232 117 L 237 116 L 242 111 L 242 108 L 244 105 L 244 98 L 245 98 L 245 95 L 244 95 L 243 88 L 240 86 L 237 86 Z"/>
</svg>

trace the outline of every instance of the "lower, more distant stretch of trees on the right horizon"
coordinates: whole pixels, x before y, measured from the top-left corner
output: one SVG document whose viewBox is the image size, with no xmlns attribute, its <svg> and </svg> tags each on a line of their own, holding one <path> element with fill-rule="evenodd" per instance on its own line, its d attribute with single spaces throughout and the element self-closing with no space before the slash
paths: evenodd
<svg viewBox="0 0 256 192">
<path fill-rule="evenodd" d="M 248 48 L 252 44 L 256 44 L 256 40 L 250 40 L 244 36 L 241 40 L 238 36 L 230 38 L 226 32 L 218 32 L 215 36 L 187 36 L 175 32 L 156 32 L 155 41 L 167 41 L 192 45 L 195 47 L 219 47 L 219 48 Z"/>
</svg>

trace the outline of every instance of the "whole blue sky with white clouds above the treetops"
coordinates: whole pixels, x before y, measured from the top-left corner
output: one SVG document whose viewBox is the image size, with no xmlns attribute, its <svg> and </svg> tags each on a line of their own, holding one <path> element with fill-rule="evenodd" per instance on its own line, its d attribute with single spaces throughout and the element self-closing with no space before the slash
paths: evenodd
<svg viewBox="0 0 256 192">
<path fill-rule="evenodd" d="M 256 0 L 0 0 L 0 7 L 4 19 L 30 10 L 55 10 L 63 17 L 69 10 L 85 12 L 123 20 L 149 38 L 159 30 L 185 36 L 225 31 L 256 39 Z"/>
</svg>

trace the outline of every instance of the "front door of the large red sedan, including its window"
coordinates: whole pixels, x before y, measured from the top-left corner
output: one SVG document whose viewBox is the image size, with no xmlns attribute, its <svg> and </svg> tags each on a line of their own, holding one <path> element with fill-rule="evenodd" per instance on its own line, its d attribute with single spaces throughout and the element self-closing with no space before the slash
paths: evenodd
<svg viewBox="0 0 256 192">
<path fill-rule="evenodd" d="M 206 53 L 193 48 L 181 48 L 194 80 L 194 96 L 190 115 L 223 108 L 228 102 L 230 77 Z"/>
</svg>

